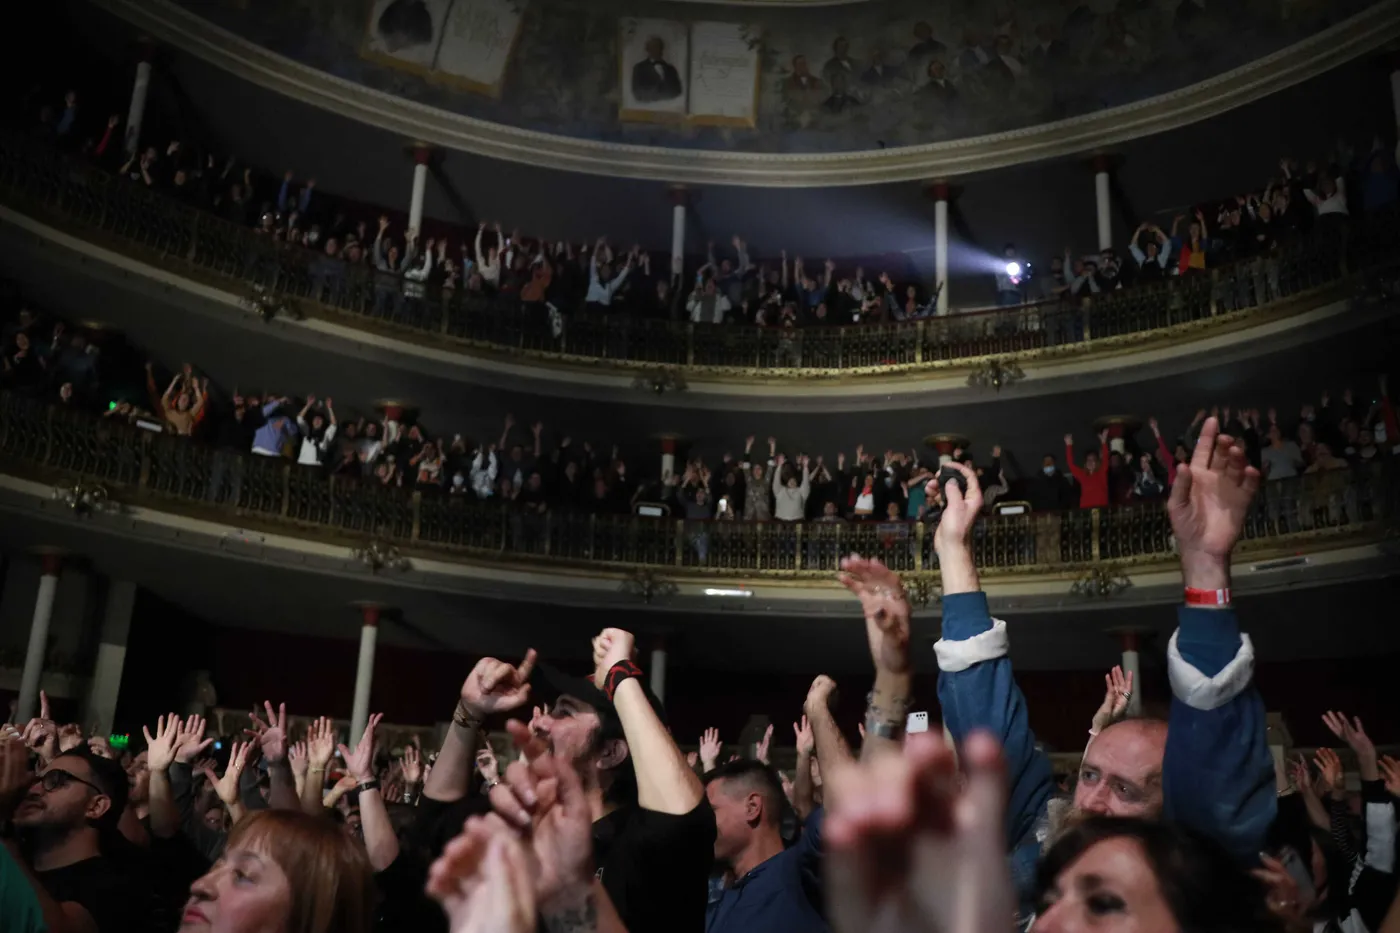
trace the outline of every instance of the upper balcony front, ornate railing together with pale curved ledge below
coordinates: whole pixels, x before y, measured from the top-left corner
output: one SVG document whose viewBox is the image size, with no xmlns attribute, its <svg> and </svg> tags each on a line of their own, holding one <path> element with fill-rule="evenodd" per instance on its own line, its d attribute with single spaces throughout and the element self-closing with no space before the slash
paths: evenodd
<svg viewBox="0 0 1400 933">
<path fill-rule="evenodd" d="M 14 224 L 73 234 L 85 249 L 137 261 L 171 282 L 213 286 L 253 310 L 319 333 L 358 335 L 463 366 L 528 363 L 560 384 L 606 381 L 657 394 L 689 388 L 791 396 L 872 398 L 1014 387 L 1077 388 L 1093 374 L 1144 378 L 1198 366 L 1210 353 L 1264 352 L 1270 340 L 1316 336 L 1383 314 L 1400 255 L 1389 214 L 1358 219 L 1345 245 L 1294 241 L 1280 252 L 1082 301 L 959 312 L 895 325 L 757 328 L 630 317 L 522 312 L 505 297 L 409 286 L 367 268 L 258 235 L 143 186 L 63 158 L 17 136 L 0 139 L 0 200 Z M 38 228 L 38 227 L 36 227 Z M 1270 300 L 1271 298 L 1271 300 Z M 1023 388 L 1023 387 L 1022 387 Z M 1008 396 L 1014 392 L 1008 392 Z"/>
</svg>

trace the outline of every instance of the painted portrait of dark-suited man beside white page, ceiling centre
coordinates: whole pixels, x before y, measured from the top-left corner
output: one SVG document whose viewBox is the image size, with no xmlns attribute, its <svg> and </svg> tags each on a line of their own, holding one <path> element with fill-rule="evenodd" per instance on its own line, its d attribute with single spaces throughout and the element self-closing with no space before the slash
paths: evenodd
<svg viewBox="0 0 1400 933">
<path fill-rule="evenodd" d="M 690 29 L 675 20 L 623 18 L 619 24 L 624 120 L 682 120 L 690 74 Z"/>
</svg>

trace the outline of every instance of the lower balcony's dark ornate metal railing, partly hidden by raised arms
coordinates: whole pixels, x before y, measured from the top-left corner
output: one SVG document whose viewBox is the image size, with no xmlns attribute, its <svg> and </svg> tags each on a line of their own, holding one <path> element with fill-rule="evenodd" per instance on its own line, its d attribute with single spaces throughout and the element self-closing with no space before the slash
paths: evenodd
<svg viewBox="0 0 1400 933">
<path fill-rule="evenodd" d="M 745 576 L 829 576 L 841 555 L 882 558 L 900 572 L 938 569 L 934 525 L 906 521 L 745 523 L 550 511 L 410 492 L 318 466 L 214 450 L 111 419 L 0 394 L 0 464 L 59 486 L 101 483 L 118 502 L 216 521 L 314 531 L 405 553 L 605 569 L 652 567 Z M 1378 532 L 1400 507 L 1396 461 L 1271 482 L 1253 504 L 1243 548 Z M 973 531 L 981 567 L 1065 572 L 1173 555 L 1162 503 L 990 516 Z"/>
</svg>

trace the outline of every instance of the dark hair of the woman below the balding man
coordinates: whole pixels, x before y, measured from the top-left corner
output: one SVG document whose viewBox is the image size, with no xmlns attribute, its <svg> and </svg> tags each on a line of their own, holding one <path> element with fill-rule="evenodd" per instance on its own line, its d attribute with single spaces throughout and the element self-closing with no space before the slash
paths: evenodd
<svg viewBox="0 0 1400 933">
<path fill-rule="evenodd" d="M 1036 902 L 1079 856 L 1107 839 L 1142 849 L 1182 933 L 1284 933 L 1263 883 L 1212 839 L 1175 822 L 1092 817 L 1065 832 L 1036 869 Z"/>
</svg>

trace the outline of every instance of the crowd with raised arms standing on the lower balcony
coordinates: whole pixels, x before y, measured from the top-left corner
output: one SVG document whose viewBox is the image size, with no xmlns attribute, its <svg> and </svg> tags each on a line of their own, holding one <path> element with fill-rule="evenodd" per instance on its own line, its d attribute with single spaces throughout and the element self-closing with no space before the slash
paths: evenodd
<svg viewBox="0 0 1400 933">
<path fill-rule="evenodd" d="M 17 310 L 14 310 L 17 308 Z M 1000 445 L 986 457 L 953 447 L 942 454 L 885 450 L 825 454 L 781 450 L 777 437 L 748 437 L 720 455 L 687 455 L 671 474 L 658 464 L 631 468 L 617 444 L 575 441 L 505 415 L 500 436 L 448 436 L 412 415 L 389 409 L 363 416 L 336 409 L 332 398 L 308 394 L 224 392 L 185 364 L 167 378 L 146 363 L 132 373 L 133 352 L 108 364 L 81 329 L 14 305 L 0 317 L 0 388 L 102 417 L 190 437 L 216 450 L 207 499 L 238 502 L 246 457 L 297 464 L 344 481 L 412 489 L 463 502 L 505 503 L 524 513 L 629 514 L 659 506 L 664 514 L 718 521 L 937 521 L 944 502 L 928 481 L 949 459 L 973 468 L 990 513 L 997 502 L 1028 503 L 1033 511 L 1102 509 L 1166 497 L 1207 415 L 1238 437 L 1249 462 L 1268 481 L 1330 474 L 1334 520 L 1355 520 L 1345 497 L 1348 469 L 1376 461 L 1400 444 L 1400 423 L 1385 377 L 1378 392 L 1326 389 L 1296 416 L 1277 408 L 1201 409 L 1179 431 L 1148 419 L 1077 452 L 1046 452 L 1039 468 L 1018 469 Z M 161 373 L 160 378 L 157 371 Z M 120 387 L 144 392 L 132 401 Z M 1140 440 L 1138 434 L 1151 437 Z M 1145 443 L 1142 443 L 1145 440 Z M 1275 516 L 1277 517 L 1277 516 Z"/>
</svg>

